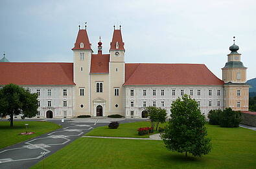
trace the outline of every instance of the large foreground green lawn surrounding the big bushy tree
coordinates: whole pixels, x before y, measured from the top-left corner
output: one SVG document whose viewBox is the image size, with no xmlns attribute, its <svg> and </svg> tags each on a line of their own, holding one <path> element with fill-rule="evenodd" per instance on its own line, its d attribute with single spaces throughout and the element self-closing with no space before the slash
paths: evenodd
<svg viewBox="0 0 256 169">
<path fill-rule="evenodd" d="M 130 124 L 137 126 L 142 123 Z M 32 169 L 42 168 L 43 163 L 45 168 L 56 169 L 255 168 L 255 131 L 246 128 L 220 128 L 209 124 L 207 128 L 213 149 L 210 154 L 201 158 L 189 155 L 186 159 L 184 154 L 170 152 L 163 141 L 84 137 L 32 166 Z"/>
</svg>

